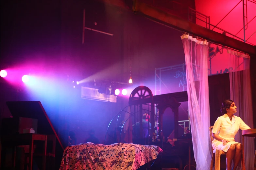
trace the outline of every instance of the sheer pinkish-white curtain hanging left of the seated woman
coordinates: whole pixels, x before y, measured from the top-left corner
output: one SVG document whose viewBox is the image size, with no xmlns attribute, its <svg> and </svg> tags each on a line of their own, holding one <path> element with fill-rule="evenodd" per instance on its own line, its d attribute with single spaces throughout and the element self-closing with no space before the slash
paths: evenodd
<svg viewBox="0 0 256 170">
<path fill-rule="evenodd" d="M 189 35 L 182 35 L 181 39 L 186 58 L 188 109 L 196 170 L 209 170 L 211 164 L 208 86 L 209 46 L 206 40 L 197 40 Z"/>
</svg>

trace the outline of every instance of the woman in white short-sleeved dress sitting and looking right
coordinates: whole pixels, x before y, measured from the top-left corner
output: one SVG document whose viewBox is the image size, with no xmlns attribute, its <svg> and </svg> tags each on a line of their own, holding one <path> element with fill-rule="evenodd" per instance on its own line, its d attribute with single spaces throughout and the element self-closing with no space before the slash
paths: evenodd
<svg viewBox="0 0 256 170">
<path fill-rule="evenodd" d="M 250 129 L 240 117 L 234 116 L 236 108 L 232 100 L 225 100 L 220 108 L 223 116 L 218 117 L 212 130 L 213 149 L 226 152 L 227 170 L 231 170 L 232 160 L 234 162 L 233 170 L 236 170 L 242 156 L 242 144 L 235 142 L 235 135 L 239 129 Z"/>
</svg>

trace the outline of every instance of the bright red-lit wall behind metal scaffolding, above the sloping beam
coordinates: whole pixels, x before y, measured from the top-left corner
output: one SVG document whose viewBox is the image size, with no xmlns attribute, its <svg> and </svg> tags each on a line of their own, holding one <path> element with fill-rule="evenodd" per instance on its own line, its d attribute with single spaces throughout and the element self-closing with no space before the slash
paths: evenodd
<svg viewBox="0 0 256 170">
<path fill-rule="evenodd" d="M 247 1 L 247 21 L 249 22 L 256 16 L 256 1 L 252 0 L 255 3 Z M 210 23 L 216 25 L 221 21 L 225 15 L 227 15 L 230 10 L 235 7 L 240 0 L 214 0 L 214 1 L 205 1 L 205 0 L 195 0 L 196 11 L 210 16 Z M 245 0 L 246 2 L 246 0 Z M 202 21 L 197 20 L 197 24 L 205 26 Z M 230 32 L 235 35 L 239 30 L 243 28 L 243 2 L 241 1 L 223 21 L 218 24 L 218 27 Z M 211 26 L 213 29 L 213 26 Z M 216 32 L 222 33 L 219 29 L 213 29 Z M 248 23 L 248 28 L 246 30 L 246 39 L 248 39 L 256 31 L 256 17 Z M 227 34 L 228 35 L 228 34 Z M 228 35 L 231 36 L 231 35 Z M 237 34 L 238 37 L 244 37 L 243 30 Z M 248 42 L 256 45 L 256 33 L 248 39 Z"/>
</svg>

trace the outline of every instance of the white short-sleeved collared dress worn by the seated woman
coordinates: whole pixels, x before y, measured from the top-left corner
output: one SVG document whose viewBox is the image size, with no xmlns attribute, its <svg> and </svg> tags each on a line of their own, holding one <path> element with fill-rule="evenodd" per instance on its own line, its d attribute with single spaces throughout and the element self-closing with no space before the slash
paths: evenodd
<svg viewBox="0 0 256 170">
<path fill-rule="evenodd" d="M 223 146 L 222 141 L 214 139 L 212 142 L 213 149 L 223 150 L 224 152 L 227 152 L 231 144 L 238 144 L 238 142 L 235 142 L 235 135 L 237 134 L 239 129 L 247 130 L 250 128 L 240 117 L 233 115 L 232 121 L 230 121 L 227 114 L 218 117 L 213 125 L 212 133 L 217 134 L 220 137 L 229 140 L 230 142 L 227 142 L 227 144 Z"/>
</svg>

